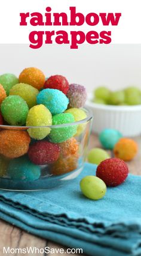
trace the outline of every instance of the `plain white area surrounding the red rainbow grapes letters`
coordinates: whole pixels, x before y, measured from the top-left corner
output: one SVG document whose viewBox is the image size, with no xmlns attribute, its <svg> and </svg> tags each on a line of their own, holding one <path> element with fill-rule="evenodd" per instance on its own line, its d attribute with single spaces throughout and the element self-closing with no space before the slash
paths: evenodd
<svg viewBox="0 0 141 256">
<path fill-rule="evenodd" d="M 141 43 L 141 15 L 140 0 L 1 0 L 0 1 L 0 43 L 29 43 L 29 32 L 35 30 L 33 26 L 21 26 L 20 13 L 39 11 L 45 13 L 45 8 L 50 6 L 53 12 L 66 12 L 69 15 L 69 7 L 76 6 L 76 10 L 83 14 L 94 13 L 122 13 L 118 26 L 99 25 L 81 26 L 82 31 L 112 30 L 112 43 Z M 53 28 L 42 28 L 37 30 L 54 30 Z M 56 28 L 57 29 L 57 28 Z M 63 29 L 70 30 L 68 26 Z M 72 29 L 72 28 L 71 28 Z M 76 29 L 76 28 L 74 28 Z M 58 30 L 58 29 L 57 29 Z M 60 27 L 59 27 L 60 30 Z"/>
</svg>

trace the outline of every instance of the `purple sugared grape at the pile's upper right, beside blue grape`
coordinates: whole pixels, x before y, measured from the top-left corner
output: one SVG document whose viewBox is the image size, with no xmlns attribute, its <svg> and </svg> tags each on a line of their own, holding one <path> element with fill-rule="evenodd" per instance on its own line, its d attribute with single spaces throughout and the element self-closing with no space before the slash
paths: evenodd
<svg viewBox="0 0 141 256">
<path fill-rule="evenodd" d="M 77 84 L 70 84 L 66 94 L 69 99 L 69 108 L 82 108 L 87 99 L 85 87 Z"/>
</svg>

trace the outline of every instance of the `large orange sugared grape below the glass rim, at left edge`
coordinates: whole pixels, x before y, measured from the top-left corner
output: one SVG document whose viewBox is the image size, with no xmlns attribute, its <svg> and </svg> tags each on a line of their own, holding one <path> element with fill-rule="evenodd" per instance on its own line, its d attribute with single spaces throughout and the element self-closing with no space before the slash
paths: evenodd
<svg viewBox="0 0 141 256">
<path fill-rule="evenodd" d="M 23 156 L 29 149 L 30 137 L 23 130 L 0 131 L 0 154 L 15 158 Z"/>
</svg>

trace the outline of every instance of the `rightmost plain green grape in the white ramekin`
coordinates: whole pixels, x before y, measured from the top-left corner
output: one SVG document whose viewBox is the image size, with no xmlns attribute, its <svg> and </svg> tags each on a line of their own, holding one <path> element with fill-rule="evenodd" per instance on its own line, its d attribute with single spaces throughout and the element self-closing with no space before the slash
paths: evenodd
<svg viewBox="0 0 141 256">
<path fill-rule="evenodd" d="M 137 87 L 128 87 L 125 90 L 125 103 L 127 105 L 141 104 L 141 93 Z"/>
</svg>

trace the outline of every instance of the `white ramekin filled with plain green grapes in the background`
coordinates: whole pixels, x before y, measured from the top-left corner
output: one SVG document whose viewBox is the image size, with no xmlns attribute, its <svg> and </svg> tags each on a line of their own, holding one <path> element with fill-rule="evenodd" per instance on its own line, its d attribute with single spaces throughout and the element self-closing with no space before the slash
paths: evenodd
<svg viewBox="0 0 141 256">
<path fill-rule="evenodd" d="M 86 103 L 94 116 L 93 131 L 116 129 L 123 136 L 141 133 L 141 89 L 130 86 L 122 90 L 97 87 L 88 95 Z"/>
</svg>

